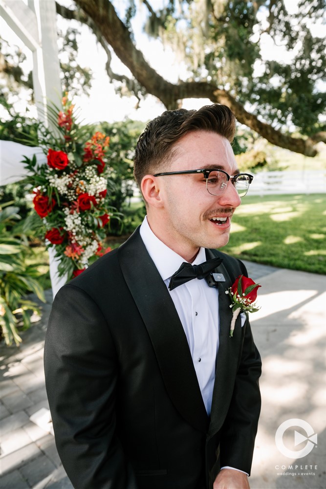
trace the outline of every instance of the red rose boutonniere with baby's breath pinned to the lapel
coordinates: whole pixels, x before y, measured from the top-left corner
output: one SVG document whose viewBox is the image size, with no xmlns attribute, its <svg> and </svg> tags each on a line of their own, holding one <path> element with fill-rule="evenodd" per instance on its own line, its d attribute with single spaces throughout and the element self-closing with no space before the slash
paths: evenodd
<svg viewBox="0 0 326 489">
<path fill-rule="evenodd" d="M 233 286 L 230 287 L 230 289 L 225 290 L 225 293 L 228 294 L 232 300 L 232 304 L 230 305 L 233 312 L 230 338 L 233 336 L 236 319 L 240 312 L 244 312 L 248 317 L 248 312 L 256 312 L 260 310 L 255 304 L 259 287 L 261 287 L 261 285 L 255 284 L 251 278 L 239 275 Z"/>
</svg>

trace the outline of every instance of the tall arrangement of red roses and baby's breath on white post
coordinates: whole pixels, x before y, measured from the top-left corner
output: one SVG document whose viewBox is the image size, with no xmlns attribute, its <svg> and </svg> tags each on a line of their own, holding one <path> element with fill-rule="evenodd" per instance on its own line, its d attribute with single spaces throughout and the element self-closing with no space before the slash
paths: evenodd
<svg viewBox="0 0 326 489">
<path fill-rule="evenodd" d="M 47 247 L 55 246 L 59 276 L 80 274 L 107 253 L 103 240 L 114 213 L 107 196 L 110 168 L 106 159 L 109 137 L 79 126 L 74 106 L 65 96 L 63 110 L 51 109 L 58 132 L 42 128 L 38 145 L 47 164 L 25 157 L 34 186 L 33 204 L 46 228 Z"/>
</svg>

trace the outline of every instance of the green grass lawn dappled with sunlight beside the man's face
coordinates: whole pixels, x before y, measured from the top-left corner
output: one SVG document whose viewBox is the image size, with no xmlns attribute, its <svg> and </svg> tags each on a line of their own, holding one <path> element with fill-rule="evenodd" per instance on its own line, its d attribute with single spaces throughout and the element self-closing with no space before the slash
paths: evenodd
<svg viewBox="0 0 326 489">
<path fill-rule="evenodd" d="M 221 248 L 237 258 L 326 274 L 326 196 L 246 196 Z"/>
</svg>

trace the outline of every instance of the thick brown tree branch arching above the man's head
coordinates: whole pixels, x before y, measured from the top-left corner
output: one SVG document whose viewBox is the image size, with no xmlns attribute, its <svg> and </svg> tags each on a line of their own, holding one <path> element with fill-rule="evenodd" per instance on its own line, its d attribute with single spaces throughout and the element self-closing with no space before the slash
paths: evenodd
<svg viewBox="0 0 326 489">
<path fill-rule="evenodd" d="M 305 156 L 317 154 L 314 138 L 295 138 L 261 122 L 256 115 L 246 111 L 234 97 L 226 90 L 218 88 L 217 85 L 204 81 L 179 84 L 166 81 L 147 63 L 142 52 L 134 46 L 129 30 L 121 22 L 109 0 L 100 2 L 98 0 L 75 0 L 75 3 L 96 25 L 101 36 L 113 48 L 122 63 L 130 69 L 140 85 L 148 93 L 161 100 L 168 110 L 176 108 L 178 101 L 183 98 L 209 98 L 213 103 L 227 105 L 240 123 L 257 131 L 272 144 Z"/>
</svg>

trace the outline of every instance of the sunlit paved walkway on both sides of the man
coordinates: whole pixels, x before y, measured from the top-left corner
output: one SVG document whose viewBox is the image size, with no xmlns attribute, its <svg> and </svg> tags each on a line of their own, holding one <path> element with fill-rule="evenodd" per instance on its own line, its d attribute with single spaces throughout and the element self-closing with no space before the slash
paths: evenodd
<svg viewBox="0 0 326 489">
<path fill-rule="evenodd" d="M 249 276 L 261 284 L 261 310 L 251 316 L 263 360 L 262 412 L 251 489 L 326 488 L 325 276 L 245 264 Z M 22 345 L 1 348 L 1 489 L 72 488 L 46 419 L 43 344 L 50 290 L 46 299 L 41 320 L 22 333 Z M 306 433 L 296 426 L 295 440 L 290 426 L 294 422 L 289 422 L 281 450 L 292 450 L 290 457 L 275 444 L 276 430 L 289 419 L 312 427 Z M 318 434 L 317 445 L 313 433 Z M 312 441 L 306 441 L 305 435 Z M 306 445 L 311 451 L 299 458 Z"/>
</svg>

